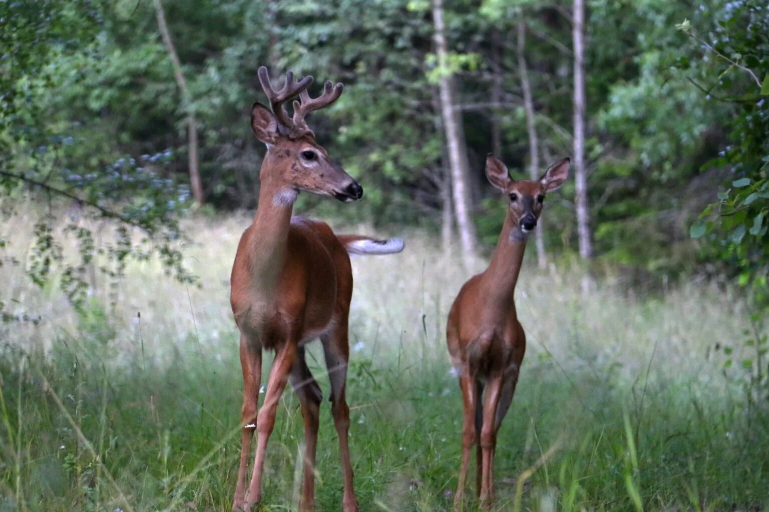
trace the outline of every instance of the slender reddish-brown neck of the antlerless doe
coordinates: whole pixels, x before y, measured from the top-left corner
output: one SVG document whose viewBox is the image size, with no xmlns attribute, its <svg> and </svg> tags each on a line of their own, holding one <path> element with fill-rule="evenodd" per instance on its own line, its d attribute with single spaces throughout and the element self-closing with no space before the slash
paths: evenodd
<svg viewBox="0 0 769 512">
<path fill-rule="evenodd" d="M 487 290 L 490 299 L 504 303 L 512 301 L 524 259 L 526 238 L 526 234 L 521 231 L 508 210 L 497 247 L 491 256 L 488 269 L 483 274 L 484 289 Z"/>
</svg>

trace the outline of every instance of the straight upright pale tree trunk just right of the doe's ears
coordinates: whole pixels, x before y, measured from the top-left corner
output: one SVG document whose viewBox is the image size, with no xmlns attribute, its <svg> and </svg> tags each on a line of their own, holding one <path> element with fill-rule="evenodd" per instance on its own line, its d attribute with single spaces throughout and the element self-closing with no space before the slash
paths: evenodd
<svg viewBox="0 0 769 512">
<path fill-rule="evenodd" d="M 577 232 L 579 254 L 583 259 L 593 256 L 588 210 L 588 176 L 584 164 L 585 93 L 584 93 L 584 0 L 574 0 L 572 14 L 574 39 L 574 182 L 577 187 Z"/>
</svg>

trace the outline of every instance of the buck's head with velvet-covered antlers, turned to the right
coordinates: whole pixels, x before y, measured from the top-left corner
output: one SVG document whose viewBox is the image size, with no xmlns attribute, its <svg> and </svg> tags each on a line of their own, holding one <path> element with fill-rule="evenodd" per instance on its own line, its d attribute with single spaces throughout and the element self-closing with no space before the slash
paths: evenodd
<svg viewBox="0 0 769 512">
<path fill-rule="evenodd" d="M 310 112 L 337 101 L 344 86 L 327 81 L 323 94 L 312 98 L 307 92 L 312 77 L 294 81 L 294 74 L 288 71 L 285 85 L 275 91 L 267 68 L 259 68 L 258 75 L 272 110 L 255 103 L 251 109 L 251 129 L 267 144 L 259 177 L 262 187 L 275 191 L 275 203 L 291 204 L 301 190 L 335 197 L 345 203 L 363 197 L 361 185 L 328 157 L 305 121 Z M 283 104 L 296 96 L 300 101 L 294 101 L 294 116 L 288 117 Z"/>
</svg>

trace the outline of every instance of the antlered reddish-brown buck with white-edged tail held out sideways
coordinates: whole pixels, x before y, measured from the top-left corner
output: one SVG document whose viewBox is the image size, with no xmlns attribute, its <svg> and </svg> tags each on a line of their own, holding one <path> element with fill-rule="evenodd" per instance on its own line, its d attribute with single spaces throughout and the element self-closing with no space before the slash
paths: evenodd
<svg viewBox="0 0 769 512">
<path fill-rule="evenodd" d="M 350 409 L 345 398 L 349 360 L 348 315 L 352 297 L 350 253 L 399 253 L 401 239 L 337 235 L 318 220 L 292 217 L 298 193 L 335 197 L 351 203 L 363 197 L 361 185 L 315 140 L 305 116 L 334 103 L 343 85 L 325 83 L 323 93 L 310 97 L 311 76 L 294 81 L 286 73 L 279 91 L 268 70 L 258 78 L 270 107 L 251 107 L 251 129 L 267 146 L 261 163 L 258 206 L 251 226 L 243 233 L 231 273 L 230 302 L 240 331 L 243 372 L 241 459 L 233 510 L 261 504 L 262 477 L 278 401 L 291 382 L 298 396 L 305 428 L 302 512 L 315 510 L 315 451 L 321 388 L 305 361 L 305 345 L 320 339 L 331 382 L 331 414 L 339 438 L 344 474 L 344 512 L 358 512 L 348 448 Z M 284 104 L 292 97 L 293 116 Z M 257 411 L 261 385 L 262 349 L 274 350 L 265 398 Z M 251 482 L 246 492 L 246 469 L 251 440 L 257 433 Z"/>
</svg>

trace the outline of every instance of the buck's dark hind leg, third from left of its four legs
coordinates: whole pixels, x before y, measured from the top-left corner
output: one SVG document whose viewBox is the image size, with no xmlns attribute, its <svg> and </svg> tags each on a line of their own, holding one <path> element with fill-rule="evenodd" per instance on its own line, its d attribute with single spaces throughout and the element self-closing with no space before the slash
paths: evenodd
<svg viewBox="0 0 769 512">
<path fill-rule="evenodd" d="M 301 417 L 305 420 L 305 482 L 302 487 L 299 510 L 315 510 L 315 448 L 318 445 L 318 423 L 323 395 L 305 361 L 305 348 L 299 347 L 297 358 L 291 368 L 291 387 L 294 388 L 301 404 Z"/>
</svg>

